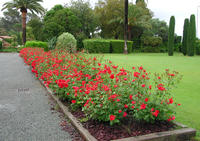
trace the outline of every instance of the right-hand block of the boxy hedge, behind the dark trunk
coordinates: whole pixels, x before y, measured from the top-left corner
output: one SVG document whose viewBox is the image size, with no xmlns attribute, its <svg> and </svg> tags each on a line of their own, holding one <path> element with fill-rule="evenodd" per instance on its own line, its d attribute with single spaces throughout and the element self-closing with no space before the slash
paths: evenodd
<svg viewBox="0 0 200 141">
<path fill-rule="evenodd" d="M 111 53 L 123 53 L 124 52 L 124 40 L 110 40 L 110 45 L 111 45 L 111 49 L 110 49 Z M 133 42 L 128 41 L 127 42 L 128 53 L 132 52 L 132 46 L 133 46 Z"/>
</svg>

